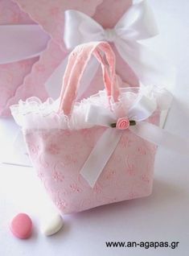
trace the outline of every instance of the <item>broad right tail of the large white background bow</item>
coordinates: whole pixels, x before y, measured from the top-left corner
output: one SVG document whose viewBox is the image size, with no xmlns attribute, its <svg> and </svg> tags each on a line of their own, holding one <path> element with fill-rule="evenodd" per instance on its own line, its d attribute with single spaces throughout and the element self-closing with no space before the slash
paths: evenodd
<svg viewBox="0 0 189 256">
<path fill-rule="evenodd" d="M 172 88 L 175 85 L 175 68 L 166 60 L 134 41 L 120 39 L 114 42 L 120 56 L 134 70 L 143 85 Z"/>
</svg>

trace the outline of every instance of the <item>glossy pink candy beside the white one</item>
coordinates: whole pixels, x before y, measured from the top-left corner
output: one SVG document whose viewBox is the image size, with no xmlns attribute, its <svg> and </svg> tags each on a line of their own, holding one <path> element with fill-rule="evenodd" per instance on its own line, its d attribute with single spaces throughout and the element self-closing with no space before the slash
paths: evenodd
<svg viewBox="0 0 189 256">
<path fill-rule="evenodd" d="M 15 237 L 27 239 L 31 237 L 32 221 L 26 213 L 19 213 L 10 224 L 10 230 Z"/>
</svg>

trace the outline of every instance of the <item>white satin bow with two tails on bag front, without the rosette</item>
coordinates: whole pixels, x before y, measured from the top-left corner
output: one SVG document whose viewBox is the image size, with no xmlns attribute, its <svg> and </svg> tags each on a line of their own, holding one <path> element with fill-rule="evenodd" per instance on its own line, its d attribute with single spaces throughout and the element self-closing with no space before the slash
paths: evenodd
<svg viewBox="0 0 189 256">
<path fill-rule="evenodd" d="M 189 142 L 187 140 L 175 134 L 171 134 L 166 130 L 162 130 L 149 122 L 144 122 L 154 113 L 156 108 L 157 105 L 153 99 L 146 96 L 139 97 L 137 101 L 135 101 L 134 106 L 129 109 L 128 113 L 128 118 L 134 118 L 137 125 L 129 126 L 129 130 L 158 146 L 178 151 L 184 155 L 189 155 Z M 116 122 L 116 120 L 117 119 L 109 109 L 102 109 L 97 105 L 90 105 L 85 118 L 85 122 L 89 122 L 94 126 L 106 127 L 109 127 L 110 124 Z M 80 174 L 92 188 L 96 184 L 98 177 L 101 175 L 113 151 L 116 149 L 123 132 L 125 131 L 117 130 L 116 128 L 108 128 L 105 130 L 88 156 L 84 166 L 81 168 Z"/>
</svg>

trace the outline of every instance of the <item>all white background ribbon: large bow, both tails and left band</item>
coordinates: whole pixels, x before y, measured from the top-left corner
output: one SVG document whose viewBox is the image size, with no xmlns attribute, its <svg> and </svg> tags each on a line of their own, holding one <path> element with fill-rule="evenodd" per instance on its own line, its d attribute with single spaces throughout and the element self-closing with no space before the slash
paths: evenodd
<svg viewBox="0 0 189 256">
<path fill-rule="evenodd" d="M 65 11 L 64 42 L 68 49 L 89 41 L 112 42 L 143 85 L 173 85 L 174 72 L 171 65 L 139 43 L 140 40 L 150 39 L 154 35 L 158 35 L 158 30 L 154 14 L 146 0 L 130 6 L 112 29 L 104 29 L 80 11 Z M 0 64 L 39 56 L 47 47 L 49 38 L 39 25 L 35 24 L 0 26 Z M 67 61 L 68 58 L 64 59 L 46 81 L 47 92 L 54 99 L 60 95 Z M 78 97 L 90 85 L 97 68 L 98 63 L 94 59 L 84 73 Z"/>
</svg>

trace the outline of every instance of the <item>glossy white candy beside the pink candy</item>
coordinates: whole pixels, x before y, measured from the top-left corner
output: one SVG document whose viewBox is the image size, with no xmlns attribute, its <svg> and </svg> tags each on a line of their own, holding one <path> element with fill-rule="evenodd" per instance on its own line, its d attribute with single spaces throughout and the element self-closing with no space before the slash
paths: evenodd
<svg viewBox="0 0 189 256">
<path fill-rule="evenodd" d="M 51 236 L 57 233 L 63 226 L 64 221 L 59 214 L 54 214 L 51 217 L 43 220 L 41 232 L 46 236 Z"/>
</svg>

